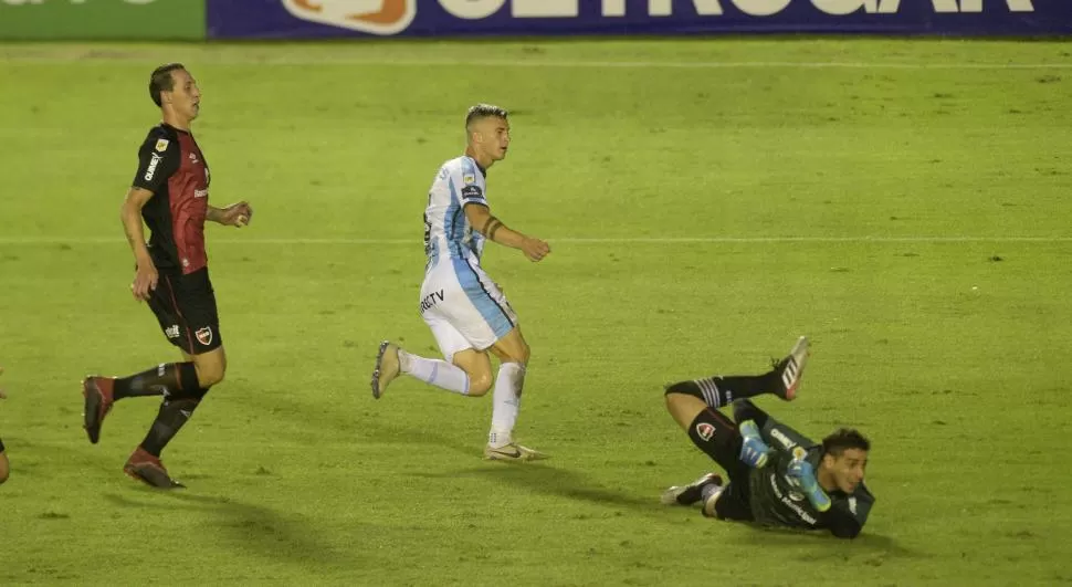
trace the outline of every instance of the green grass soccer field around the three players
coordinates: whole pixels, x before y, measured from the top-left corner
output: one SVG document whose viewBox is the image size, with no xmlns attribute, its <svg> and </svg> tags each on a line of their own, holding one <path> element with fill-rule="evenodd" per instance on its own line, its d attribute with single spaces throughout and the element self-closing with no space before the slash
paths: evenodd
<svg viewBox="0 0 1072 587">
<path fill-rule="evenodd" d="M 1057 585 L 1072 583 L 1072 45 L 692 40 L 0 44 L 0 584 Z M 178 358 L 132 300 L 118 219 L 158 113 L 153 67 L 198 78 L 195 133 L 228 379 L 122 472 L 158 400 L 99 444 L 81 378 Z M 491 397 L 400 379 L 435 356 L 421 214 L 475 102 L 512 111 L 488 175 L 547 240 L 484 266 L 533 358 L 516 431 Z M 855 541 L 665 507 L 716 465 L 664 384 L 760 373 L 796 337 L 802 432 L 871 437 Z M 1064 554 L 1062 554 L 1064 553 Z"/>
</svg>

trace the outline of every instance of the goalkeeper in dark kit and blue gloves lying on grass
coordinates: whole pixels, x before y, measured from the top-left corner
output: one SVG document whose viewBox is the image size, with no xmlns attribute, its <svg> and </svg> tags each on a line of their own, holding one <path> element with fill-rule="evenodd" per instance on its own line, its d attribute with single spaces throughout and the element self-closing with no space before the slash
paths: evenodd
<svg viewBox="0 0 1072 587">
<path fill-rule="evenodd" d="M 829 530 L 853 538 L 863 528 L 874 496 L 863 482 L 871 446 L 860 432 L 840 429 L 812 442 L 745 398 L 797 395 L 808 359 L 800 337 L 789 356 L 761 376 L 710 377 L 666 389 L 666 409 L 700 450 L 729 478 L 707 473 L 668 489 L 668 505 L 703 504 L 705 516 L 805 530 Z M 734 421 L 717 411 L 733 403 Z"/>
</svg>

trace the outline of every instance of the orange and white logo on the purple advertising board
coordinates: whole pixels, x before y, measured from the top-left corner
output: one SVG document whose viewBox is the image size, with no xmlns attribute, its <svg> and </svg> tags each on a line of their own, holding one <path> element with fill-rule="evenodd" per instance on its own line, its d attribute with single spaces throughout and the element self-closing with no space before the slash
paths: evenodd
<svg viewBox="0 0 1072 587">
<path fill-rule="evenodd" d="M 417 17 L 417 0 L 283 0 L 302 20 L 372 34 L 396 34 Z"/>
</svg>

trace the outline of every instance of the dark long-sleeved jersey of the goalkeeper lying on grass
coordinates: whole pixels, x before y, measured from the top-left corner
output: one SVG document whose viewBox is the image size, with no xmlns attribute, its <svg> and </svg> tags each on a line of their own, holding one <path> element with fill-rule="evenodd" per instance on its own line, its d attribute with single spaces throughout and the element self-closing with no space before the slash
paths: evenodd
<svg viewBox="0 0 1072 587">
<path fill-rule="evenodd" d="M 758 411 L 755 406 L 752 409 Z M 740 418 L 737 420 L 740 421 Z M 826 512 L 817 511 L 803 491 L 786 475 L 786 470 L 792 462 L 794 454 L 805 451 L 806 459 L 818 471 L 822 446 L 770 416 L 756 419 L 756 423 L 760 423 L 760 420 L 764 420 L 760 434 L 775 452 L 766 467 L 753 469 L 748 474 L 748 501 L 756 522 L 807 530 L 826 528 L 837 536 L 845 537 L 859 534 L 874 504 L 874 496 L 866 485 L 860 483 L 851 495 L 838 490 L 827 492 L 830 496 L 830 509 Z"/>
</svg>

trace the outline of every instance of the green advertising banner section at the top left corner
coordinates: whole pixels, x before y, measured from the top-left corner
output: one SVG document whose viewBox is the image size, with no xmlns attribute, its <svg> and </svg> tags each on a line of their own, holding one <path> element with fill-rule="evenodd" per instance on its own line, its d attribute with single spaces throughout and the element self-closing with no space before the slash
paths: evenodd
<svg viewBox="0 0 1072 587">
<path fill-rule="evenodd" d="M 61 39 L 201 40 L 204 0 L 0 0 L 0 40 Z"/>
</svg>

